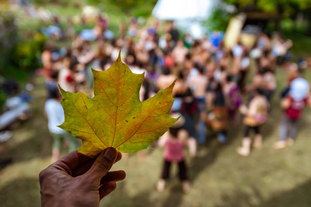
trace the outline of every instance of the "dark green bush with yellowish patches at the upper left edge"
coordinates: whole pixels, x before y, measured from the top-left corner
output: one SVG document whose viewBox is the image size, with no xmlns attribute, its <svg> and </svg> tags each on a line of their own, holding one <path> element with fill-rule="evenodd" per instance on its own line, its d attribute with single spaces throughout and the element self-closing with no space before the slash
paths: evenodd
<svg viewBox="0 0 311 207">
<path fill-rule="evenodd" d="M 17 13 L 8 5 L 0 8 L 0 75 L 24 81 L 30 71 L 39 68 L 39 57 L 46 39 L 28 23 L 19 27 Z M 37 28 L 38 30 L 39 28 Z"/>
</svg>

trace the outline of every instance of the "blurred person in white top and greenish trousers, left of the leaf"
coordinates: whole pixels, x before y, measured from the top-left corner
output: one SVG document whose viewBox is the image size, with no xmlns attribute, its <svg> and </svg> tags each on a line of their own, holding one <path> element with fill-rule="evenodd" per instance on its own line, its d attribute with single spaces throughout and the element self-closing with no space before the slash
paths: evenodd
<svg viewBox="0 0 311 207">
<path fill-rule="evenodd" d="M 48 118 L 48 130 L 50 130 L 50 134 L 53 137 L 53 149 L 50 161 L 55 162 L 59 159 L 62 139 L 64 138 L 69 142 L 68 152 L 77 150 L 77 140 L 73 135 L 58 127 L 65 121 L 64 109 L 61 103 L 59 103 L 62 100 L 59 90 L 57 89 L 51 92 L 51 96 L 51 99 L 46 101 L 44 110 Z"/>
</svg>

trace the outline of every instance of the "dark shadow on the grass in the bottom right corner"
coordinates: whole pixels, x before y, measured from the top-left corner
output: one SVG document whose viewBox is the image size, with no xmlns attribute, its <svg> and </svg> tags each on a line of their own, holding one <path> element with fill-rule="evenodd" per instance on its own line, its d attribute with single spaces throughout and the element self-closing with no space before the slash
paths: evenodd
<svg viewBox="0 0 311 207">
<path fill-rule="evenodd" d="M 252 186 L 252 193 L 236 190 L 234 193 L 224 194 L 221 204 L 216 207 L 308 207 L 311 206 L 311 179 L 296 188 L 277 193 L 265 201 L 261 193 Z"/>
</svg>

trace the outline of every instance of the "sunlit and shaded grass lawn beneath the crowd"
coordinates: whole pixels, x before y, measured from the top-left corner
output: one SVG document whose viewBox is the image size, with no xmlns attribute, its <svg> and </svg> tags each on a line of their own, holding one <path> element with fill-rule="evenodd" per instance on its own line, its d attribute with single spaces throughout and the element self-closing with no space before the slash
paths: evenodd
<svg viewBox="0 0 311 207">
<path fill-rule="evenodd" d="M 284 86 L 285 71 L 277 70 L 278 88 Z M 311 70 L 306 70 L 311 80 Z M 12 139 L 0 144 L 0 159 L 11 157 L 12 163 L 0 166 L 0 206 L 39 206 L 40 170 L 50 164 L 52 138 L 44 118 L 46 91 L 44 78 L 37 77 L 32 118 L 13 130 Z M 250 157 L 236 154 L 241 145 L 243 127 L 229 130 L 229 143 L 218 144 L 209 133 L 208 144 L 198 147 L 198 157 L 187 159 L 191 190 L 182 193 L 177 169 L 164 193 L 156 191 L 162 168 L 162 149 L 145 150 L 145 161 L 133 154 L 113 169 L 126 171 L 126 179 L 101 206 L 311 206 L 311 110 L 306 109 L 299 123 L 296 143 L 284 150 L 272 149 L 279 138 L 282 111 L 279 91 L 274 95 L 272 114 L 263 126 L 264 145 Z M 66 154 L 64 149 L 63 154 Z"/>
</svg>

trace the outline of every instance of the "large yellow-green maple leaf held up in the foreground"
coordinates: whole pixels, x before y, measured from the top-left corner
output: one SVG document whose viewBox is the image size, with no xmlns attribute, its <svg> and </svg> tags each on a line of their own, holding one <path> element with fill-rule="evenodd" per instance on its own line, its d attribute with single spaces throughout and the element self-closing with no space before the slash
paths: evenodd
<svg viewBox="0 0 311 207">
<path fill-rule="evenodd" d="M 139 92 L 144 74 L 133 74 L 120 55 L 108 70 L 92 72 L 93 99 L 59 87 L 65 112 L 65 121 L 59 127 L 82 139 L 77 152 L 88 157 L 95 157 L 106 147 L 137 152 L 146 149 L 178 120 L 169 115 L 175 82 L 142 102 Z"/>
</svg>

